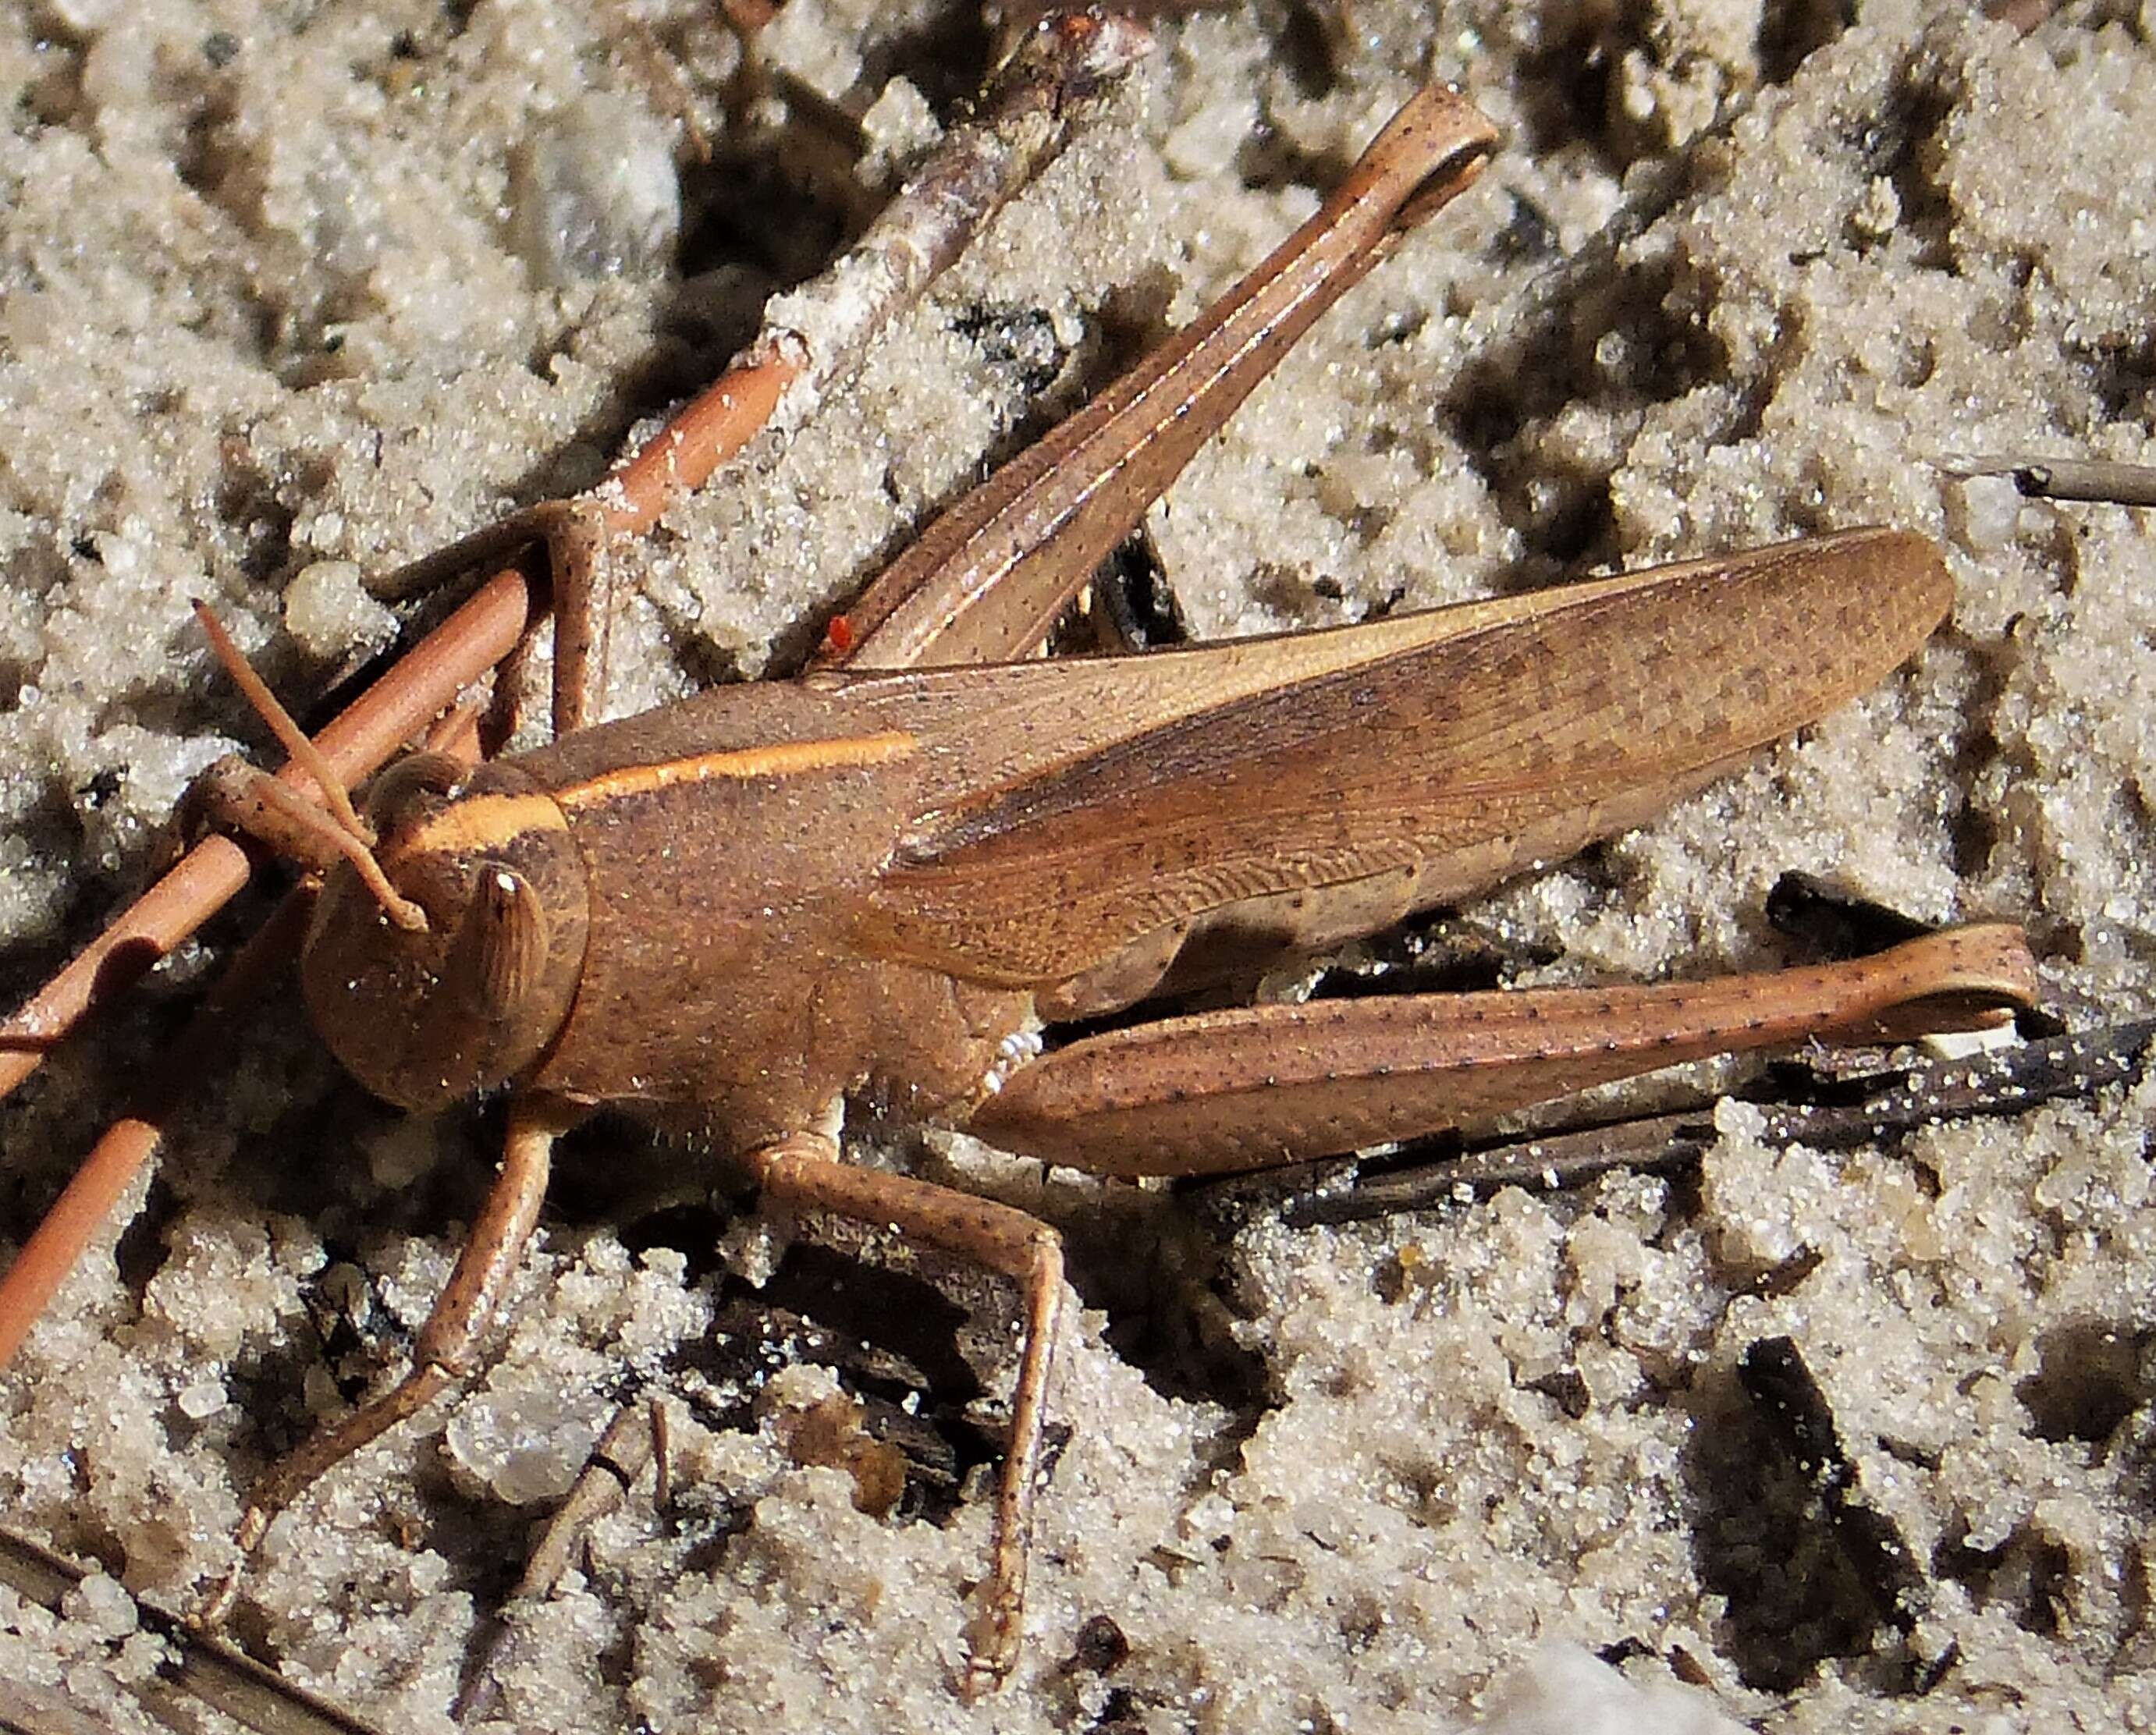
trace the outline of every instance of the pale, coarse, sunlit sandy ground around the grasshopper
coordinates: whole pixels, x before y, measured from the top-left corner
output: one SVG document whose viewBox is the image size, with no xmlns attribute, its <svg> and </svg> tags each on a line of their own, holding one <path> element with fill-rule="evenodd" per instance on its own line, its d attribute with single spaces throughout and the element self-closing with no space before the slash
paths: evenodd
<svg viewBox="0 0 2156 1735">
<path fill-rule="evenodd" d="M 1464 922 L 1516 981 L 1710 974 L 1783 955 L 1766 890 L 1809 869 L 2022 920 L 2070 1022 L 2147 1015 L 2156 530 L 1927 459 L 2156 459 L 2156 15 L 1852 11 L 1354 0 L 1164 28 L 1110 125 L 796 442 L 627 556 L 617 709 L 785 666 L 1438 75 L 1505 155 L 1156 509 L 1190 627 L 1925 530 L 1960 603 L 1910 670 Z M 4 6 L 9 998 L 140 882 L 188 778 L 259 744 L 190 595 L 285 692 L 323 692 L 390 623 L 341 610 L 349 571 L 321 563 L 386 569 L 591 481 L 880 205 L 981 41 L 944 0 L 789 0 L 761 45 L 778 95 L 729 108 L 737 45 L 703 0 Z M 858 170 L 802 86 L 869 114 Z M 688 121 L 716 155 L 675 177 Z M 9 1104 L 0 1239 L 203 966 Z M 0 1679 L 56 1726 L 155 1726 L 129 1683 L 164 1642 L 112 1580 L 179 1608 L 229 1565 L 248 1481 L 397 1362 L 483 1183 L 498 1116 L 399 1121 L 302 1024 L 285 1000 L 250 1026 L 0 1379 L 4 1524 L 110 1576 L 65 1621 L 0 1597 Z M 2150 1097 L 1841 1155 L 1766 1149 L 1725 1108 L 1697 1177 L 1352 1229 L 1222 1231 L 1166 1192 L 884 1138 L 1061 1224 L 1084 1304 L 1026 1657 L 975 1707 L 951 1677 L 1009 1295 L 903 1252 L 787 1252 L 668 1196 L 683 1155 L 608 1123 L 492 1373 L 304 1500 L 233 1632 L 382 1729 L 444 1729 L 535 1524 L 612 1403 L 658 1392 L 673 1504 L 638 1491 L 524 1623 L 513 1726 L 1423 1731 L 1546 1640 L 1774 1731 L 2150 1726 Z M 1772 1338 L 1889 1515 L 1897 1619 L 1865 1588 L 1878 1552 L 1744 1399 Z M 841 1386 L 906 1446 L 888 1517 L 804 1461 Z"/>
</svg>

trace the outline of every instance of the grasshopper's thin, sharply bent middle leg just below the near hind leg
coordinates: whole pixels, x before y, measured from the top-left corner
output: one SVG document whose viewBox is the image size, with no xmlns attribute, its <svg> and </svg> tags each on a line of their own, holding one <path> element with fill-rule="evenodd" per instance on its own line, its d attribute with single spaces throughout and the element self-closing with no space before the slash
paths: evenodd
<svg viewBox="0 0 2156 1735">
<path fill-rule="evenodd" d="M 852 1168 L 839 1160 L 834 1142 L 811 1134 L 757 1151 L 748 1168 L 763 1196 L 783 1209 L 886 1224 L 910 1239 L 975 1259 L 1020 1287 L 1026 1325 L 1018 1390 L 1011 1397 L 1011 1446 L 996 1489 L 987 1582 L 981 1586 L 966 1662 L 966 1692 L 985 1692 L 1018 1662 L 1048 1371 L 1063 1328 L 1063 1237 L 1009 1205 L 910 1175 Z"/>
</svg>

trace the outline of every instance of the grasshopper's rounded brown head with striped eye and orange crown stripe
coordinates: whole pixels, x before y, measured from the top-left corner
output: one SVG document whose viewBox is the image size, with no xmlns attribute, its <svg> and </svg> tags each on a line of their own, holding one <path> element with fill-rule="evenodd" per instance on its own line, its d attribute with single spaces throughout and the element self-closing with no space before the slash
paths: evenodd
<svg viewBox="0 0 2156 1735">
<path fill-rule="evenodd" d="M 507 1084 L 561 1032 L 584 968 L 584 862 L 530 778 L 414 754 L 367 800 L 375 858 L 425 927 L 332 869 L 300 981 L 323 1041 L 369 1091 L 442 1108 Z"/>
</svg>

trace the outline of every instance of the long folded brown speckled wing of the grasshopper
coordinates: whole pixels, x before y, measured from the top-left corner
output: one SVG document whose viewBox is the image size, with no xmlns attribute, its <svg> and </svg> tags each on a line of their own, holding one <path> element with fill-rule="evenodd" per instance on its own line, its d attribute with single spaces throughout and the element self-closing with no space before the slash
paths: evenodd
<svg viewBox="0 0 2156 1735">
<path fill-rule="evenodd" d="M 1453 901 L 1854 698 L 1951 599 L 1930 541 L 1858 530 L 1319 634 L 867 677 L 936 772 L 860 944 L 1050 985 L 1255 901 Z"/>
</svg>

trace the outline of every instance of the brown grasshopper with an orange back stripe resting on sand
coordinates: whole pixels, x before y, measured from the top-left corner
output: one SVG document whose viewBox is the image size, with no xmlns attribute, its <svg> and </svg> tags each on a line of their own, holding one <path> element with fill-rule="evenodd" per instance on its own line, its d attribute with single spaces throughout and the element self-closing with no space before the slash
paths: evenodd
<svg viewBox="0 0 2156 1735">
<path fill-rule="evenodd" d="M 1009 662 L 1339 293 L 1481 170 L 1432 88 L 1235 291 L 938 519 L 800 681 L 571 731 L 593 631 L 563 627 L 558 739 L 427 750 L 334 819 L 229 769 L 216 810 L 321 882 L 302 983 L 382 1097 L 509 1093 L 500 1177 L 412 1371 L 254 1489 L 239 1541 L 466 1379 L 537 1224 L 554 1142 L 619 1106 L 711 1142 L 780 1207 L 895 1224 L 1011 1276 L 1024 1349 L 970 1640 L 1022 1634 L 1065 1285 L 1007 1205 L 841 1162 L 847 1101 L 1104 1175 L 1352 1151 L 1684 1058 L 1994 1022 L 2018 931 L 1708 985 L 1410 996 L 1166 1017 L 1041 1054 L 1039 1028 L 1300 957 L 1643 821 L 1908 657 L 1951 601 L 1936 550 L 1858 530 L 1542 595 L 1138 660 Z M 610 502 L 545 539 L 591 593 Z M 573 623 L 571 623 L 573 625 Z M 496 623 L 494 631 L 500 631 Z M 492 642 L 492 640 L 489 640 Z M 455 735 L 444 735 L 444 746 Z M 0 1325 L 28 1323 L 19 1302 Z"/>
</svg>

